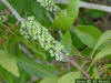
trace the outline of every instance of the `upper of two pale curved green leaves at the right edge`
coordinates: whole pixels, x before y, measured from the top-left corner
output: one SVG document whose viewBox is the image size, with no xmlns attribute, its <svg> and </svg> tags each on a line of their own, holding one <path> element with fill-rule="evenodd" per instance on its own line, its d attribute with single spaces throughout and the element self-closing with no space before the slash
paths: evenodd
<svg viewBox="0 0 111 83">
<path fill-rule="evenodd" d="M 108 42 L 109 40 L 111 40 L 111 30 L 104 32 L 100 39 L 98 40 L 97 42 L 97 45 L 94 48 L 94 51 L 100 46 L 102 45 L 103 43 Z"/>
</svg>

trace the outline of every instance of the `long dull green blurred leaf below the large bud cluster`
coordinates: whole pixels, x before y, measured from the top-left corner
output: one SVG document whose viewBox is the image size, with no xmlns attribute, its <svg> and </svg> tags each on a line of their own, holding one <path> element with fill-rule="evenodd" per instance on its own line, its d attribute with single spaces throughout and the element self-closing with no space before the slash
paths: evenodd
<svg viewBox="0 0 111 83">
<path fill-rule="evenodd" d="M 16 55 L 16 59 L 18 61 L 18 65 L 31 75 L 37 75 L 40 77 L 56 75 L 54 66 L 46 63 L 34 62 L 22 51 L 19 51 L 18 55 Z"/>
</svg>

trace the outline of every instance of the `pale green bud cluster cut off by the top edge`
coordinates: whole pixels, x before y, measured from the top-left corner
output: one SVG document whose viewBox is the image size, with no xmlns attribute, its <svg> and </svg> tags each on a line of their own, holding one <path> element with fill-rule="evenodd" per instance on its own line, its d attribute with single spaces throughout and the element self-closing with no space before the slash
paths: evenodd
<svg viewBox="0 0 111 83">
<path fill-rule="evenodd" d="M 53 0 L 37 0 L 37 2 L 40 2 L 42 7 L 51 12 L 60 10 L 59 7 L 56 6 L 56 2 Z"/>
</svg>

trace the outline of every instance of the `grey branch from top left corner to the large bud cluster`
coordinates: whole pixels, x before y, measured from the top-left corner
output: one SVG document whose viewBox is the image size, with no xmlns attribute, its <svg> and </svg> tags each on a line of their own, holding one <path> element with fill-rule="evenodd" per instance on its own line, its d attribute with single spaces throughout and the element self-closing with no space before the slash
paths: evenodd
<svg viewBox="0 0 111 83">
<path fill-rule="evenodd" d="M 19 15 L 19 13 L 11 7 L 11 4 L 7 0 L 0 0 L 6 7 L 12 12 L 12 14 L 18 19 L 18 21 L 22 21 L 23 18 Z"/>
</svg>

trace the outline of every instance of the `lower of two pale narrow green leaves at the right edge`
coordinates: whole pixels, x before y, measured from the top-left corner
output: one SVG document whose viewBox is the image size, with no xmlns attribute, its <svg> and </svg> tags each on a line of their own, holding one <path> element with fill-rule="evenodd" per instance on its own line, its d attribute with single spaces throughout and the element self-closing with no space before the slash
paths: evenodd
<svg viewBox="0 0 111 83">
<path fill-rule="evenodd" d="M 110 54 L 111 54 L 111 43 L 105 45 L 105 48 L 103 48 L 101 51 L 99 51 L 99 53 L 95 54 L 93 61 L 95 61 L 98 59 L 102 59 L 102 58 L 110 55 Z"/>
</svg>

